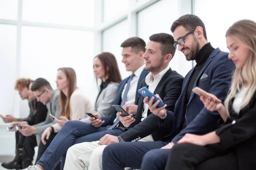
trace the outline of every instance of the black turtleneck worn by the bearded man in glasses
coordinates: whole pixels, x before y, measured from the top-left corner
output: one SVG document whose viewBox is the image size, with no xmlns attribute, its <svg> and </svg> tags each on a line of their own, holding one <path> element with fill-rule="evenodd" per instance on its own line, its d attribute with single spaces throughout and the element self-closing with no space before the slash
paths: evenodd
<svg viewBox="0 0 256 170">
<path fill-rule="evenodd" d="M 201 69 L 204 66 L 204 63 L 206 62 L 206 60 L 208 59 L 208 57 L 210 56 L 210 54 L 212 54 L 212 51 L 214 51 L 214 50 L 215 49 L 212 47 L 210 42 L 208 42 L 198 51 L 198 54 L 195 57 L 196 66 L 192 73 L 191 79 L 189 80 L 189 85 L 188 85 L 188 88 L 186 91 L 186 103 L 189 102 L 189 97 L 192 92 L 192 88 L 195 84 L 195 80 L 198 77 L 198 74 L 200 73 Z"/>
</svg>

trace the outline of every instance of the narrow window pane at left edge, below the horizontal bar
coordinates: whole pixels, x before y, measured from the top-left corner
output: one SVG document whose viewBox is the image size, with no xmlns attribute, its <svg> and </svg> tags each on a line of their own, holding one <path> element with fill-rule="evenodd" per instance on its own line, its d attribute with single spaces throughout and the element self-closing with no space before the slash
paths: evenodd
<svg viewBox="0 0 256 170">
<path fill-rule="evenodd" d="M 16 26 L 0 24 L 1 114 L 10 114 L 14 111 L 13 93 L 16 71 L 16 33 Z"/>
</svg>

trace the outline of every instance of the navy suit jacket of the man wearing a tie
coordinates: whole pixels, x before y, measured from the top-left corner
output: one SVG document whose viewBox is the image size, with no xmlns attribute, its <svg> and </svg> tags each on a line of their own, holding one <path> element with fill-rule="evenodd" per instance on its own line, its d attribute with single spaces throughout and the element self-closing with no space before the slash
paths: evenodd
<svg viewBox="0 0 256 170">
<path fill-rule="evenodd" d="M 138 80 L 138 84 L 137 84 L 137 90 L 136 90 L 136 95 L 135 95 L 135 105 L 138 105 L 138 100 L 139 100 L 139 96 L 138 96 L 138 90 L 140 88 L 140 83 L 142 82 L 142 80 L 148 75 L 149 71 L 143 69 L 142 73 L 140 74 L 140 78 Z M 116 99 L 113 102 L 113 105 L 120 105 L 122 102 L 122 91 L 125 87 L 125 84 L 128 82 L 129 77 L 125 78 L 124 80 L 122 80 L 119 83 L 118 89 L 117 89 L 117 94 L 116 94 Z M 102 117 L 102 121 L 105 120 L 105 123 L 102 124 L 102 126 L 107 126 L 107 125 L 113 125 L 114 120 L 116 119 L 116 113 L 117 111 L 113 108 L 111 111 L 111 115 L 110 116 L 104 116 Z"/>
</svg>

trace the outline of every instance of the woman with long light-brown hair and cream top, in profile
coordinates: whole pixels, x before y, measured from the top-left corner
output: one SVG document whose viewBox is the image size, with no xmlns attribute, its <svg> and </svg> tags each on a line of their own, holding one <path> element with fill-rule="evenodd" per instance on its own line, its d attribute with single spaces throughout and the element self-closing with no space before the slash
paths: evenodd
<svg viewBox="0 0 256 170">
<path fill-rule="evenodd" d="M 45 137 L 49 137 L 51 133 L 57 133 L 65 122 L 86 118 L 86 112 L 91 113 L 93 106 L 90 99 L 84 92 L 76 87 L 76 72 L 73 68 L 59 68 L 56 79 L 59 94 L 60 118 L 55 119 L 54 125 L 44 130 L 41 140 L 46 144 Z"/>
</svg>

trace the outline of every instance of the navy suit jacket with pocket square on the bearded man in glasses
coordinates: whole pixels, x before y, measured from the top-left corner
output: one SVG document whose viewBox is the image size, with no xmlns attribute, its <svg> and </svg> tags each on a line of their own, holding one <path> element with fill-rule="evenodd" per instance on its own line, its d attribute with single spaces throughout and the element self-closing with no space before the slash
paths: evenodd
<svg viewBox="0 0 256 170">
<path fill-rule="evenodd" d="M 219 113 L 204 108 L 200 96 L 192 92 L 186 106 L 186 91 L 194 69 L 195 67 L 189 71 L 183 80 L 182 91 L 176 102 L 174 112 L 167 111 L 166 119 L 159 121 L 159 126 L 169 128 L 170 132 L 162 141 L 177 143 L 186 133 L 201 135 L 217 128 L 220 119 Z M 228 53 L 216 48 L 205 62 L 193 88 L 197 86 L 224 101 L 231 85 L 234 70 L 235 65 L 228 58 Z M 186 121 L 186 127 L 182 130 L 184 121 Z"/>
</svg>

